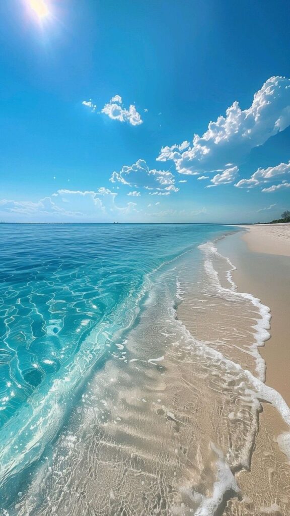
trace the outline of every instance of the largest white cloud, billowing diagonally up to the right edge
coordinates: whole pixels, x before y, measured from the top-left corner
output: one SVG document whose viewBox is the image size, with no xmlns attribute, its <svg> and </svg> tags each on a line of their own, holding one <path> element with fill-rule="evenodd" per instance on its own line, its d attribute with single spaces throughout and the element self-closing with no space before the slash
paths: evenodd
<svg viewBox="0 0 290 516">
<path fill-rule="evenodd" d="M 290 79 L 270 77 L 254 94 L 249 108 L 242 110 L 237 101 L 225 117 L 208 124 L 207 131 L 195 135 L 190 146 L 164 147 L 158 161 L 173 160 L 184 174 L 218 171 L 242 163 L 251 149 L 263 145 L 271 136 L 290 125 Z M 182 147 L 187 146 L 185 150 Z"/>
</svg>

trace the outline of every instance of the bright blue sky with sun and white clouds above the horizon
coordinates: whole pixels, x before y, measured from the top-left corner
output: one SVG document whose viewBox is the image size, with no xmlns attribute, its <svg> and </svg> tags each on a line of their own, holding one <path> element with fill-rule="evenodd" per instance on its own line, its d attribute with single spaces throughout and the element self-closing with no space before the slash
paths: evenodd
<svg viewBox="0 0 290 516">
<path fill-rule="evenodd" d="M 290 209 L 290 5 L 1 0 L 0 220 Z"/>
</svg>

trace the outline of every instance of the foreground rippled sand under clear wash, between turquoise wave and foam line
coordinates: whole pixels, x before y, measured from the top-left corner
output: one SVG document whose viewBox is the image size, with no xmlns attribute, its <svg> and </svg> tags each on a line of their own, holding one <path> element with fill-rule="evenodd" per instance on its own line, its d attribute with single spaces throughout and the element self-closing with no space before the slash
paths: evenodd
<svg viewBox="0 0 290 516">
<path fill-rule="evenodd" d="M 175 319 L 169 283 L 154 285 L 126 341 L 107 343 L 111 359 L 20 494 L 19 516 L 241 514 L 234 474 L 249 466 L 261 406 L 244 369 Z M 225 329 L 230 342 L 229 320 Z M 279 503 L 289 509 L 285 496 Z"/>
</svg>

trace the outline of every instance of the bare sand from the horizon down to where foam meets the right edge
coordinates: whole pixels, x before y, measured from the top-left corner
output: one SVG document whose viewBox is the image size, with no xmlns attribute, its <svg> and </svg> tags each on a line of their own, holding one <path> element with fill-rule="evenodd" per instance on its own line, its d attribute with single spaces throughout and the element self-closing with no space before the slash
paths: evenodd
<svg viewBox="0 0 290 516">
<path fill-rule="evenodd" d="M 287 224 L 289 240 L 286 242 L 272 234 L 275 226 L 277 224 L 265 224 L 262 231 L 262 224 L 244 226 L 247 232 L 227 235 L 218 241 L 217 248 L 236 266 L 232 276 L 238 291 L 251 293 L 270 308 L 270 338 L 259 348 L 266 362 L 265 383 L 282 394 L 290 406 L 289 382 L 286 375 L 281 375 L 285 364 L 290 366 L 290 224 Z"/>
</svg>

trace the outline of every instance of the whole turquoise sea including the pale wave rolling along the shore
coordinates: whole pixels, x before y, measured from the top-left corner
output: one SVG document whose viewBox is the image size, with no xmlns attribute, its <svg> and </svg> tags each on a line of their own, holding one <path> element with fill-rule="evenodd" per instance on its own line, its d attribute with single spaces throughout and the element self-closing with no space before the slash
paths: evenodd
<svg viewBox="0 0 290 516">
<path fill-rule="evenodd" d="M 0 225 L 3 506 L 10 480 L 25 490 L 25 471 L 42 460 L 88 375 L 110 359 L 109 344 L 138 326 L 154 289 L 150 275 L 196 250 L 194 277 L 198 246 L 231 231 L 210 224 Z"/>
</svg>

